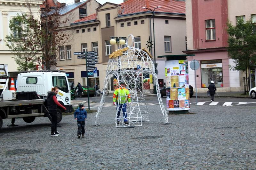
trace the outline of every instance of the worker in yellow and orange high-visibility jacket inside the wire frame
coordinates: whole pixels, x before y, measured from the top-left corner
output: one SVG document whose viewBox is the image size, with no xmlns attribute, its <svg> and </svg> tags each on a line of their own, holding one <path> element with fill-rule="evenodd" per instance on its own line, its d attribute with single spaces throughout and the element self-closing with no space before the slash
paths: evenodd
<svg viewBox="0 0 256 170">
<path fill-rule="evenodd" d="M 124 87 L 124 82 L 120 82 L 120 87 L 116 89 L 113 94 L 113 104 L 115 105 L 116 103 L 116 109 L 117 109 L 117 117 L 116 117 L 117 124 L 119 124 L 120 122 L 121 110 L 123 111 L 123 115 L 124 115 L 124 123 L 129 124 L 128 120 L 126 119 L 127 102 L 131 103 L 130 92 L 128 89 Z"/>
</svg>

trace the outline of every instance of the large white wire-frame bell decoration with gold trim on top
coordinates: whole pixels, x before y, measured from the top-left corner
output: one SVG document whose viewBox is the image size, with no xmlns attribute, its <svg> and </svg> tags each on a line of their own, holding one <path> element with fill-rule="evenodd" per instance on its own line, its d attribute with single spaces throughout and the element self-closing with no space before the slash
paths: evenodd
<svg viewBox="0 0 256 170">
<path fill-rule="evenodd" d="M 132 39 L 132 44 L 128 45 L 128 40 Z M 126 47 L 118 49 L 109 56 L 106 77 L 104 81 L 104 91 L 108 87 L 110 78 L 115 78 L 116 88 L 122 81 L 125 83 L 125 88 L 129 90 L 131 96 L 131 103 L 126 106 L 126 115 L 120 114 L 120 121 L 117 121 L 116 110 L 116 127 L 134 127 L 142 126 L 143 121 L 149 121 L 149 110 L 143 94 L 143 75 L 152 74 L 154 83 L 156 85 L 157 98 L 160 105 L 161 112 L 164 117 L 164 124 L 168 123 L 168 114 L 163 105 L 160 94 L 157 75 L 155 73 L 155 66 L 152 56 L 146 49 L 139 49 L 134 47 L 134 37 L 132 34 L 128 36 L 125 43 Z M 118 96 L 121 97 L 120 94 Z M 95 115 L 95 126 L 100 125 L 100 115 L 105 103 L 106 96 L 103 95 L 100 100 L 100 106 Z M 117 105 L 119 108 L 119 106 Z M 121 108 L 120 110 L 122 110 Z M 128 121 L 126 124 L 124 120 Z"/>
</svg>

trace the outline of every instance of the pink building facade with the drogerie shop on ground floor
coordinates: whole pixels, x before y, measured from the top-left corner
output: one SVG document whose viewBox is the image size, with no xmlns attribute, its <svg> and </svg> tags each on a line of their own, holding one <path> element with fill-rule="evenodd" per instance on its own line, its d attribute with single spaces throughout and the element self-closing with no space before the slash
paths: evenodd
<svg viewBox="0 0 256 170">
<path fill-rule="evenodd" d="M 198 92 L 206 92 L 211 81 L 218 91 L 240 91 L 239 72 L 229 69 L 227 27 L 228 0 L 186 1 L 188 62 L 198 60 Z M 190 68 L 189 68 L 190 69 Z M 189 70 L 189 84 L 195 85 L 194 71 Z"/>
</svg>

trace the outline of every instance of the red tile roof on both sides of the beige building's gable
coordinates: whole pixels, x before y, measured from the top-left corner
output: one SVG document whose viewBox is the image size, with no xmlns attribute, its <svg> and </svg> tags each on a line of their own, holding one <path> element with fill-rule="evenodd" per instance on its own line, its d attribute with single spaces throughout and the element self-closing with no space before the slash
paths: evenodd
<svg viewBox="0 0 256 170">
<path fill-rule="evenodd" d="M 168 13 L 179 13 L 186 14 L 185 1 L 183 0 L 128 0 L 121 5 L 121 15 L 132 14 L 137 12 L 146 12 L 148 9 L 144 9 L 143 7 L 149 8 L 153 10 L 157 6 L 161 6 L 157 8 L 155 12 L 168 12 Z M 97 18 L 97 14 L 92 14 L 88 17 L 79 19 L 76 22 L 90 21 Z"/>
</svg>

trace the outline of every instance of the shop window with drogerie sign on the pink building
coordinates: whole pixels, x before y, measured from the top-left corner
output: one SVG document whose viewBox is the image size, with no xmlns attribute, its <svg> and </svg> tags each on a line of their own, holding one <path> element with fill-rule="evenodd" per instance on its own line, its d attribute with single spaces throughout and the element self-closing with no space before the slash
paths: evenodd
<svg viewBox="0 0 256 170">
<path fill-rule="evenodd" d="M 222 60 L 201 61 L 202 88 L 208 88 L 211 81 L 216 87 L 223 87 Z"/>
</svg>

